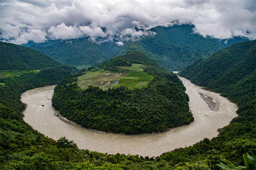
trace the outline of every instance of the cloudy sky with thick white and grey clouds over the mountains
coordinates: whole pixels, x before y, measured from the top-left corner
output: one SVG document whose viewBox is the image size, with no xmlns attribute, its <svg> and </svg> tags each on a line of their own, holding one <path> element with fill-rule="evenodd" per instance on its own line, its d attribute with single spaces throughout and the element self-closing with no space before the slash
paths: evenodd
<svg viewBox="0 0 256 170">
<path fill-rule="evenodd" d="M 173 24 L 194 24 L 203 36 L 253 40 L 255 22 L 256 0 L 0 0 L 0 39 L 14 44 L 90 37 L 123 45 Z"/>
</svg>

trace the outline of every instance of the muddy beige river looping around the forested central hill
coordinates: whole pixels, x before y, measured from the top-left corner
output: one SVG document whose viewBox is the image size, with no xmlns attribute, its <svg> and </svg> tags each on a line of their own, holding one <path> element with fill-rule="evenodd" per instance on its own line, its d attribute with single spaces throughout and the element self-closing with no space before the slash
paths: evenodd
<svg viewBox="0 0 256 170">
<path fill-rule="evenodd" d="M 65 136 L 68 140 L 73 140 L 80 149 L 109 154 L 158 156 L 175 148 L 193 145 L 205 137 L 210 139 L 216 137 L 218 135 L 216 130 L 228 125 L 237 116 L 236 105 L 221 97 L 219 93 L 205 91 L 185 78 L 180 79 L 187 89 L 186 93 L 190 98 L 189 107 L 195 121 L 168 132 L 140 135 L 100 134 L 65 123 L 54 116 L 56 110 L 51 105 L 54 86 L 36 88 L 22 93 L 21 101 L 28 104 L 23 112 L 24 121 L 54 140 Z M 198 92 L 218 101 L 219 110 L 211 110 Z"/>
</svg>

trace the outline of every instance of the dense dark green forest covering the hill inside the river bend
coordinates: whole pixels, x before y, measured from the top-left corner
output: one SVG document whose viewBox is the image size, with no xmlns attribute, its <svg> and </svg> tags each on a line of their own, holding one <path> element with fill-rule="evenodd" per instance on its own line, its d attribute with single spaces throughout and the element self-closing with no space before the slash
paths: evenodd
<svg viewBox="0 0 256 170">
<path fill-rule="evenodd" d="M 185 87 L 175 74 L 164 71 L 139 51 L 105 62 L 110 63 L 114 67 L 142 63 L 148 66 L 145 73 L 154 78 L 142 89 L 131 90 L 123 85 L 103 91 L 93 86 L 79 88 L 74 82 L 81 72 L 55 87 L 52 106 L 83 127 L 124 134 L 165 131 L 194 120 Z"/>
</svg>

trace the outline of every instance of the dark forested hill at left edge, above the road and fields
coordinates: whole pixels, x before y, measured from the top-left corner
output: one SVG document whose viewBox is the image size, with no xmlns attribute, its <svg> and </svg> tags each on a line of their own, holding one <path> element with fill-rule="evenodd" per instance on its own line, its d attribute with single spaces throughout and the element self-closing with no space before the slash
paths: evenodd
<svg viewBox="0 0 256 170">
<path fill-rule="evenodd" d="M 60 63 L 37 50 L 12 43 L 0 42 L 1 70 L 37 70 Z"/>
</svg>

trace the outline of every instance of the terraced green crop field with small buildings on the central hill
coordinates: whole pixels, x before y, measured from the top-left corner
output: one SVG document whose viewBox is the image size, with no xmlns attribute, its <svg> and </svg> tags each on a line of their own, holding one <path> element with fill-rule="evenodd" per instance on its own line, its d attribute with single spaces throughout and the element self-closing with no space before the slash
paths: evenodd
<svg viewBox="0 0 256 170">
<path fill-rule="evenodd" d="M 145 74 L 143 71 L 135 72 L 90 72 L 79 76 L 77 84 L 86 89 L 89 85 L 98 86 L 103 90 L 116 88 L 126 85 L 129 89 L 142 88 L 148 84 L 152 76 Z"/>
</svg>

